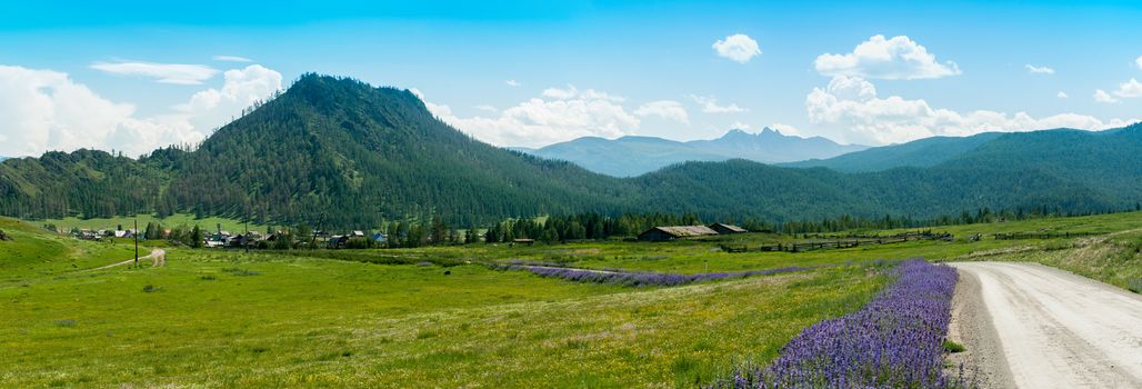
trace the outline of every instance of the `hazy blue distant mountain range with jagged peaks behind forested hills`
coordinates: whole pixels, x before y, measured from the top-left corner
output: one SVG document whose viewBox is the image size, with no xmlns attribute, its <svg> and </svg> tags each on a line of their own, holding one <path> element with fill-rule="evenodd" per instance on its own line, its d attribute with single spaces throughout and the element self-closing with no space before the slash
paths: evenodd
<svg viewBox="0 0 1142 389">
<path fill-rule="evenodd" d="M 789 136 L 764 128 L 757 134 L 732 129 L 719 138 L 708 141 L 677 142 L 651 136 L 605 140 L 587 136 L 541 149 L 510 149 L 570 161 L 595 173 L 629 177 L 685 161 L 740 158 L 765 164 L 791 162 L 831 158 L 866 150 L 868 146 L 837 144 L 820 136 Z"/>
</svg>

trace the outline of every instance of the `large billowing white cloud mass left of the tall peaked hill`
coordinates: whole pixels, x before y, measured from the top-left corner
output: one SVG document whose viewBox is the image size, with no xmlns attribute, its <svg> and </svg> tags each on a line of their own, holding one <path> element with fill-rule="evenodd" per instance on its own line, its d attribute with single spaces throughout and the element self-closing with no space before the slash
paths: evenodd
<svg viewBox="0 0 1142 389">
<path fill-rule="evenodd" d="M 236 72 L 252 76 L 247 70 Z M 0 122 L 5 124 L 0 126 L 0 154 L 39 156 L 49 150 L 89 148 L 138 156 L 159 146 L 202 141 L 210 128 L 249 105 L 239 102 L 272 93 L 250 97 L 252 86 L 259 82 L 232 72 L 227 72 L 222 89 L 200 92 L 169 113 L 140 118 L 134 104 L 104 98 L 66 73 L 0 65 Z M 281 74 L 273 74 L 279 82 L 276 90 Z"/>
</svg>

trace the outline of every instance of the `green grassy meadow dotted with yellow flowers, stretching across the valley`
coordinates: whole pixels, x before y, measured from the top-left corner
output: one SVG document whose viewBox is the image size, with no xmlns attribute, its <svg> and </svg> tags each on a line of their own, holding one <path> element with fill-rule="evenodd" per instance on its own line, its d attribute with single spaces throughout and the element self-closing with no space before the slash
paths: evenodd
<svg viewBox="0 0 1142 389">
<path fill-rule="evenodd" d="M 1129 287 L 1142 279 L 1140 228 L 1139 213 L 1036 220 L 938 230 L 1127 232 L 796 254 L 729 254 L 717 241 L 171 247 L 167 267 L 91 271 L 131 246 L 0 219 L 14 239 L 0 241 L 0 387 L 694 387 L 860 308 L 888 281 L 867 260 L 1037 261 Z M 508 260 L 673 272 L 856 264 L 670 288 L 480 264 Z"/>
</svg>

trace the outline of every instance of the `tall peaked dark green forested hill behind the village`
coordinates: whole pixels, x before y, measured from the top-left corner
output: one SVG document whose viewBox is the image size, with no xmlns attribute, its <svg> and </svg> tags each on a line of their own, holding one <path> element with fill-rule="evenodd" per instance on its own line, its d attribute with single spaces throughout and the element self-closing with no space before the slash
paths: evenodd
<svg viewBox="0 0 1142 389">
<path fill-rule="evenodd" d="M 308 74 L 222 128 L 170 185 L 178 208 L 260 220 L 373 225 L 440 213 L 617 212 L 626 184 L 475 141 L 408 90 Z M 324 216 L 322 216 L 324 215 Z"/>
</svg>

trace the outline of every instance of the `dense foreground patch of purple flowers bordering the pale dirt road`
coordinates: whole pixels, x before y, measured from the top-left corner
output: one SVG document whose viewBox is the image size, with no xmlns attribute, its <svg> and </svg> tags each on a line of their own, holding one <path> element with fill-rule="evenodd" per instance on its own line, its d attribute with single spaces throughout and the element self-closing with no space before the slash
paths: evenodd
<svg viewBox="0 0 1142 389">
<path fill-rule="evenodd" d="M 740 368 L 713 387 L 963 387 L 941 364 L 956 271 L 910 260 L 894 273 L 860 311 L 805 328 L 767 367 Z"/>
</svg>

